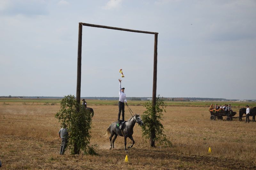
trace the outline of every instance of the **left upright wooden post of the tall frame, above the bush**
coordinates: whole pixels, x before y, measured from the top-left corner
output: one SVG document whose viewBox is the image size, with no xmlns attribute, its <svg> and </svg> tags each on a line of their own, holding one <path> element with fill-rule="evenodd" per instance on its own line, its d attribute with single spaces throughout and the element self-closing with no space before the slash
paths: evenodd
<svg viewBox="0 0 256 170">
<path fill-rule="evenodd" d="M 80 95 L 81 95 L 82 28 L 83 28 L 83 25 L 79 23 L 78 50 L 77 50 L 77 81 L 76 81 L 76 102 L 78 104 L 80 104 Z"/>
</svg>

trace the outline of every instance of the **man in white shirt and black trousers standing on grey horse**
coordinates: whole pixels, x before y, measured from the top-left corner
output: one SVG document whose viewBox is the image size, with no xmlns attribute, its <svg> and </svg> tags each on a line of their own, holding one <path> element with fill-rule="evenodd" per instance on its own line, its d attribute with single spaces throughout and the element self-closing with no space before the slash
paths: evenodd
<svg viewBox="0 0 256 170">
<path fill-rule="evenodd" d="M 121 88 L 121 79 L 119 80 L 119 102 L 118 102 L 118 108 L 119 108 L 119 112 L 118 112 L 118 118 L 117 121 L 120 122 L 120 115 L 121 115 L 121 111 L 122 111 L 122 121 L 124 121 L 124 102 L 127 103 L 126 100 L 126 95 L 124 93 L 124 87 Z"/>
</svg>

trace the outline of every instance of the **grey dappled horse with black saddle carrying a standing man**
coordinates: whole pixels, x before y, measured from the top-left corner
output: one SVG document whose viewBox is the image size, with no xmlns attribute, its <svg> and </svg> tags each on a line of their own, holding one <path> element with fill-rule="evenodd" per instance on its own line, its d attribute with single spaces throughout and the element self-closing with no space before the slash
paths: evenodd
<svg viewBox="0 0 256 170">
<path fill-rule="evenodd" d="M 140 115 L 135 114 L 127 122 L 124 122 L 123 133 L 121 132 L 120 129 L 116 129 L 117 122 L 114 122 L 111 125 L 109 125 L 109 127 L 107 129 L 107 133 L 106 133 L 106 135 L 110 134 L 110 137 L 109 137 L 110 148 L 109 149 L 112 149 L 112 144 L 113 144 L 113 148 L 114 148 L 114 142 L 116 140 L 117 135 L 124 137 L 124 150 L 125 151 L 127 150 L 126 149 L 126 138 L 129 137 L 132 140 L 132 145 L 128 146 L 128 149 L 131 148 L 133 146 L 133 144 L 135 143 L 132 138 L 133 127 L 134 127 L 135 123 L 138 123 L 139 125 L 143 125 Z M 112 140 L 113 136 L 114 136 L 114 139 Z"/>
</svg>

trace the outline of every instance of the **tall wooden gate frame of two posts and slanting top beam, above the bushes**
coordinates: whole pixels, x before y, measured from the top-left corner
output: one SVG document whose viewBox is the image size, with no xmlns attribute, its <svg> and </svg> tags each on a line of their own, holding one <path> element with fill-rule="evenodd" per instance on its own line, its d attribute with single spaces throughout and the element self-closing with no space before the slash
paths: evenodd
<svg viewBox="0 0 256 170">
<path fill-rule="evenodd" d="M 152 94 L 152 106 L 156 105 L 156 73 L 157 73 L 157 36 L 158 33 L 148 32 L 148 31 L 139 31 L 139 30 L 131 30 L 124 28 L 117 28 L 112 26 L 101 26 L 94 24 L 87 24 L 79 22 L 78 26 L 78 50 L 77 50 L 77 81 L 76 81 L 76 102 L 80 104 L 80 95 L 81 95 L 81 61 L 82 61 L 82 28 L 83 26 L 91 26 L 98 28 L 107 28 L 113 30 L 121 30 L 121 31 L 129 31 L 135 33 L 148 33 L 155 34 L 155 43 L 154 43 L 154 70 L 153 70 L 153 94 Z"/>
</svg>

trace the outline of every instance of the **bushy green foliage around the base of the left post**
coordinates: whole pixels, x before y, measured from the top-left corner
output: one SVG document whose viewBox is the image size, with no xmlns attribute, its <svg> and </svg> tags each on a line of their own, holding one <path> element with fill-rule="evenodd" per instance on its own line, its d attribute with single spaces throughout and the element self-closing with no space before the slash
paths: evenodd
<svg viewBox="0 0 256 170">
<path fill-rule="evenodd" d="M 60 101 L 60 110 L 56 113 L 55 118 L 59 119 L 61 124 L 65 123 L 68 128 L 68 146 L 71 154 L 97 154 L 90 146 L 92 117 L 91 113 L 80 103 L 76 102 L 73 95 L 65 96 Z"/>
</svg>

